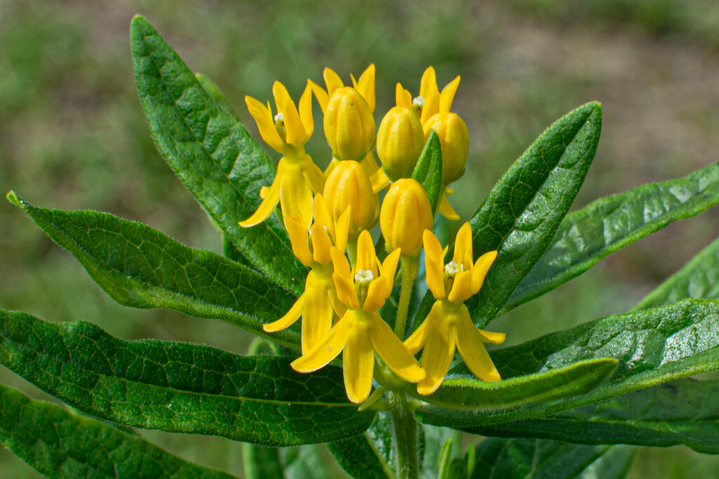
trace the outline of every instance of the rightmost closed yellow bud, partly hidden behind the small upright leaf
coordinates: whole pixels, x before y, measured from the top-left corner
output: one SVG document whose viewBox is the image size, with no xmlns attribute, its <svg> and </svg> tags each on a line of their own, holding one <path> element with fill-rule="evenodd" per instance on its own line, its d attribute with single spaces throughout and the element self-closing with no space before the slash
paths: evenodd
<svg viewBox="0 0 719 479">
<path fill-rule="evenodd" d="M 436 113 L 424 124 L 424 136 L 436 131 L 442 144 L 442 183 L 446 186 L 464 175 L 464 163 L 470 152 L 470 131 L 456 113 Z"/>
</svg>

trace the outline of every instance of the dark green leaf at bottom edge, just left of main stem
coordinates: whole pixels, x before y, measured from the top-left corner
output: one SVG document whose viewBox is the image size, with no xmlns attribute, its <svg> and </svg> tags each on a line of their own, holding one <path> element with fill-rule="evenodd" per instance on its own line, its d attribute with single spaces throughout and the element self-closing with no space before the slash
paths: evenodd
<svg viewBox="0 0 719 479">
<path fill-rule="evenodd" d="M 387 433 L 389 434 L 389 431 Z M 328 442 L 327 448 L 342 469 L 355 479 L 393 477 L 367 432 L 341 441 Z"/>
</svg>

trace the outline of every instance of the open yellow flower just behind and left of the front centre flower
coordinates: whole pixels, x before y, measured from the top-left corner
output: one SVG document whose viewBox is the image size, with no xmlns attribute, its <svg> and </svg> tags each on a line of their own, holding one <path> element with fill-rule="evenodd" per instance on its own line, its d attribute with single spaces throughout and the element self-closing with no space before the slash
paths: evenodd
<svg viewBox="0 0 719 479">
<path fill-rule="evenodd" d="M 347 248 L 349 206 L 338 219 L 333 220 L 324 197 L 315 195 L 312 213 L 314 221 L 309 233 L 297 215 L 285 218 L 292 251 L 302 264 L 312 268 L 305 281 L 305 291 L 286 315 L 262 326 L 267 332 L 280 331 L 293 325 L 301 315 L 303 353 L 311 350 L 329 332 L 334 317 L 333 309 L 339 315 L 347 309 L 337 300 L 332 281 L 334 268 L 330 249 L 333 246 L 342 251 Z"/>
</svg>

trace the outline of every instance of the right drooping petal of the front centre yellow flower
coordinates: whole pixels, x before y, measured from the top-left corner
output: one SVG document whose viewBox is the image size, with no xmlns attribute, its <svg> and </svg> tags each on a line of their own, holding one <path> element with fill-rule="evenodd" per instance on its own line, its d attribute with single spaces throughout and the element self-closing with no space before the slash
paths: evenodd
<svg viewBox="0 0 719 479">
<path fill-rule="evenodd" d="M 397 376 L 410 383 L 416 383 L 425 376 L 424 370 L 412 353 L 395 336 L 393 330 L 378 313 L 372 315 L 370 339 L 382 361 Z"/>
</svg>

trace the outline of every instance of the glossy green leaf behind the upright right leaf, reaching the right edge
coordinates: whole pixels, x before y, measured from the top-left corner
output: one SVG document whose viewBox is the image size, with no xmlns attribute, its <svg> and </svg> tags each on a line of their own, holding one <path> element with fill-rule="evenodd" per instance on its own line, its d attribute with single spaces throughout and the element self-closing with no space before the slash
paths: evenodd
<svg viewBox="0 0 719 479">
<path fill-rule="evenodd" d="M 514 290 L 504 311 L 579 276 L 629 243 L 717 203 L 719 163 L 678 180 L 649 183 L 601 198 L 567 215 L 551 247 Z"/>
</svg>

